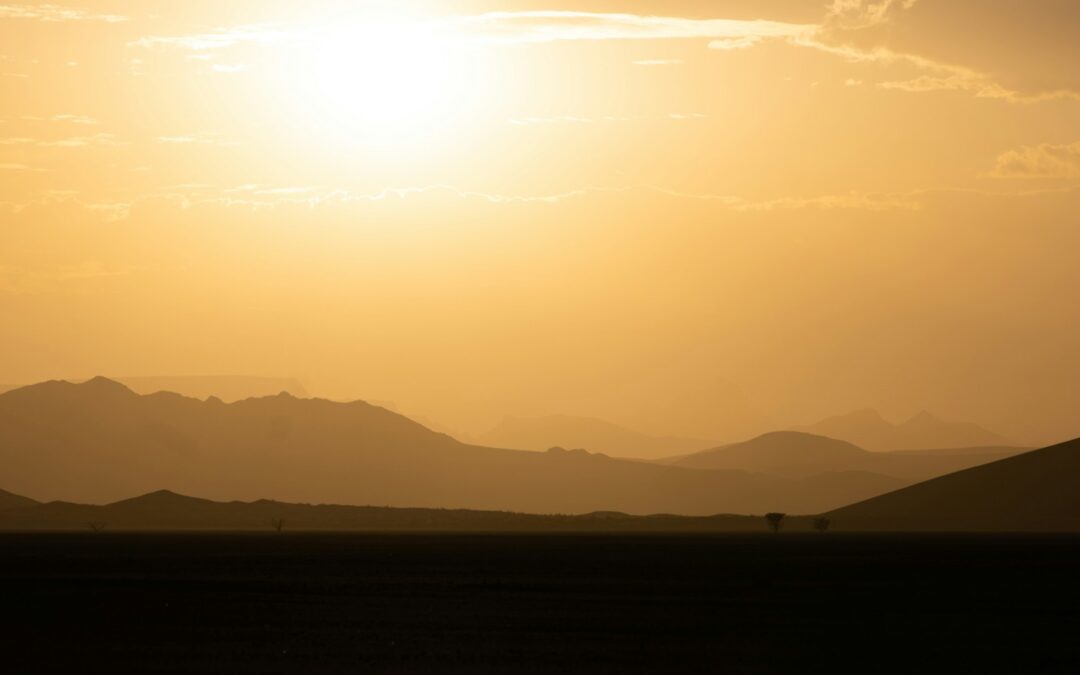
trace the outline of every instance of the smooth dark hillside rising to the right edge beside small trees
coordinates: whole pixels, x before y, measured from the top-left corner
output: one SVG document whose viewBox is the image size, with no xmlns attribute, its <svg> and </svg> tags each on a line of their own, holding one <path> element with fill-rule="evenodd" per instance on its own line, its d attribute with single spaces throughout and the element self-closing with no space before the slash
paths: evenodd
<svg viewBox="0 0 1080 675">
<path fill-rule="evenodd" d="M 1080 440 L 829 513 L 843 530 L 1080 531 Z"/>
</svg>

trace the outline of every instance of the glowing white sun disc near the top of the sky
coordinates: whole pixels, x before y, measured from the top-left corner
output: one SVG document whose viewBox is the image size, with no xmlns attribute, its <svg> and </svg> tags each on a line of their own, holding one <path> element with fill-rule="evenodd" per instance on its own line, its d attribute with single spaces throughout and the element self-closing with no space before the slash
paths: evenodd
<svg viewBox="0 0 1080 675">
<path fill-rule="evenodd" d="M 460 45 L 422 18 L 322 26 L 296 49 L 285 80 L 301 123 L 342 143 L 430 140 L 472 105 Z"/>
</svg>

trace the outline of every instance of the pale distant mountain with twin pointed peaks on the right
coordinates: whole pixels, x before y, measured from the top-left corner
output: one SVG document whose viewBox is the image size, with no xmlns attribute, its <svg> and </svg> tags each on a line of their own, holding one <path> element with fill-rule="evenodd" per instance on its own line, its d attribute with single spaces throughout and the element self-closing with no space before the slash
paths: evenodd
<svg viewBox="0 0 1080 675">
<path fill-rule="evenodd" d="M 945 421 L 926 410 L 894 424 L 867 408 L 796 427 L 793 431 L 847 441 L 874 451 L 1020 445 L 977 424 Z"/>
</svg>

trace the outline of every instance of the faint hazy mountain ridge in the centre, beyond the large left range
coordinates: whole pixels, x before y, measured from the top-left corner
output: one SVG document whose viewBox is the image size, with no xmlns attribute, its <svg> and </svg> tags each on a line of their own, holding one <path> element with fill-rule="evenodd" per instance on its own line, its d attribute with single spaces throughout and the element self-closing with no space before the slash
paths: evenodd
<svg viewBox="0 0 1080 675">
<path fill-rule="evenodd" d="M 550 447 L 584 448 L 612 457 L 658 459 L 712 445 L 699 438 L 652 436 L 592 417 L 550 415 L 507 417 L 497 427 L 476 437 L 478 443 L 523 450 Z"/>
</svg>

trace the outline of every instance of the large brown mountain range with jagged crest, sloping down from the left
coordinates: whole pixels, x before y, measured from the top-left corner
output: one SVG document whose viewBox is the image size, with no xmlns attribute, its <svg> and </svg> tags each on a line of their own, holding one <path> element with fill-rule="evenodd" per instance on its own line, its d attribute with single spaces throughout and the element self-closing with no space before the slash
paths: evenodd
<svg viewBox="0 0 1080 675">
<path fill-rule="evenodd" d="M 827 481 L 465 445 L 364 402 L 227 404 L 105 378 L 0 395 L 0 467 L 16 492 L 91 503 L 166 486 L 222 500 L 705 515 L 814 513 L 853 497 Z"/>
</svg>

